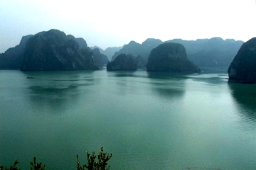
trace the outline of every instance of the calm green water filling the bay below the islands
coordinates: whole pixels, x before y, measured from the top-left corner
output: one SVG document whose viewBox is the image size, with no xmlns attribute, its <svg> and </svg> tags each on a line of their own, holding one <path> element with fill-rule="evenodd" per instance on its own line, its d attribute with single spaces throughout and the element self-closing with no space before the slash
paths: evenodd
<svg viewBox="0 0 256 170">
<path fill-rule="evenodd" d="M 102 146 L 111 169 L 256 169 L 256 86 L 225 72 L 0 71 L 1 164 L 76 169 Z"/>
</svg>

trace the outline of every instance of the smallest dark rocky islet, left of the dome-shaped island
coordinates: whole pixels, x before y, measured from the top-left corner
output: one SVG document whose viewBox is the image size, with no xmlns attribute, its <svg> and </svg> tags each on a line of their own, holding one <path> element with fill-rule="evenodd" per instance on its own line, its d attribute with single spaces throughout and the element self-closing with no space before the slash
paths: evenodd
<svg viewBox="0 0 256 170">
<path fill-rule="evenodd" d="M 133 55 L 118 55 L 112 62 L 107 63 L 107 70 L 136 70 L 137 61 Z"/>
</svg>

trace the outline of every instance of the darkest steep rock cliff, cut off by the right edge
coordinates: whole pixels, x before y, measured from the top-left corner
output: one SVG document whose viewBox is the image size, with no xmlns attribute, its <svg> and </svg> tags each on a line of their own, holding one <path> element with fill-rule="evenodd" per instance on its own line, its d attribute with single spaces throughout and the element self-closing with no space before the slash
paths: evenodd
<svg viewBox="0 0 256 170">
<path fill-rule="evenodd" d="M 256 83 L 256 38 L 245 42 L 228 68 L 230 80 Z"/>
</svg>

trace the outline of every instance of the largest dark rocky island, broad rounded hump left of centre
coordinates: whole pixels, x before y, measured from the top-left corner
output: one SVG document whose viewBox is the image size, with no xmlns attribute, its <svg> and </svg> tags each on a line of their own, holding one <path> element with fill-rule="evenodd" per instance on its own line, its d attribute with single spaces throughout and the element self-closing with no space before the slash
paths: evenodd
<svg viewBox="0 0 256 170">
<path fill-rule="evenodd" d="M 49 30 L 28 40 L 21 70 L 97 69 L 92 54 L 88 47 L 80 50 L 78 42 L 60 30 Z"/>
</svg>

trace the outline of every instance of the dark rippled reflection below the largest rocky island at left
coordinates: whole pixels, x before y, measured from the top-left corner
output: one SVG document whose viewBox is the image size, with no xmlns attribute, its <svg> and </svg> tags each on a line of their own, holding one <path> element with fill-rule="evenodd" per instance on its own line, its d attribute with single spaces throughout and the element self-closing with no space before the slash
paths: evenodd
<svg viewBox="0 0 256 170">
<path fill-rule="evenodd" d="M 28 98 L 34 111 L 50 108 L 58 114 L 75 106 L 81 90 L 95 84 L 92 72 L 24 72 Z"/>
</svg>

